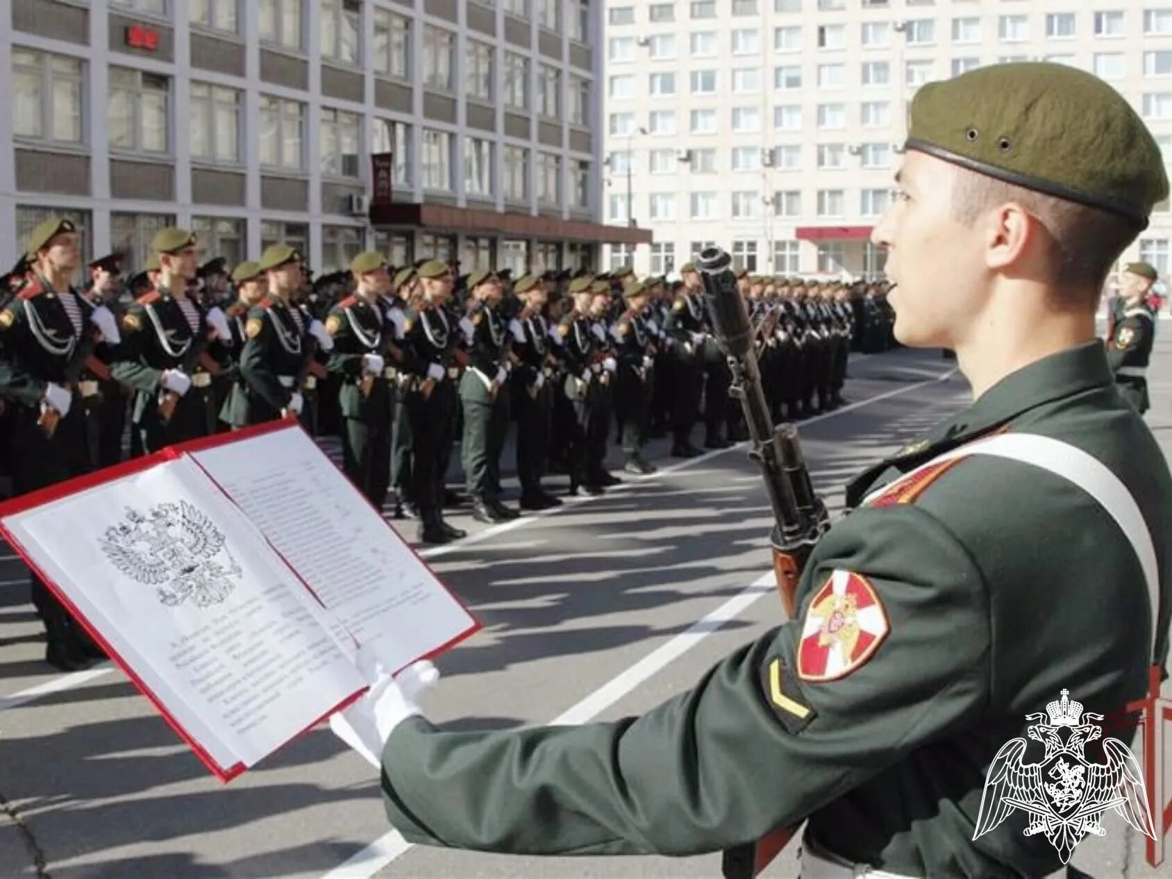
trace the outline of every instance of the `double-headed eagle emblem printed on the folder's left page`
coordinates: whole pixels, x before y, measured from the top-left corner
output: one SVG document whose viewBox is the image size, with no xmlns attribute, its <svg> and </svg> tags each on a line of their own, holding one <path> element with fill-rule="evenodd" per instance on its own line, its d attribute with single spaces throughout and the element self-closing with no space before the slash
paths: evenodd
<svg viewBox="0 0 1172 879">
<path fill-rule="evenodd" d="M 97 538 L 110 563 L 148 586 L 166 607 L 189 599 L 196 607 L 223 602 L 236 588 L 240 565 L 225 546 L 225 534 L 186 500 L 125 509 L 122 522 Z"/>
</svg>

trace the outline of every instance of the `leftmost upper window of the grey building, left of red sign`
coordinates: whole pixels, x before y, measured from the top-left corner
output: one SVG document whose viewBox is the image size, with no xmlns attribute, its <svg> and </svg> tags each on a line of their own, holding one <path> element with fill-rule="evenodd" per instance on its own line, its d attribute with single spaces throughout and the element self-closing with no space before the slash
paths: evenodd
<svg viewBox="0 0 1172 879">
<path fill-rule="evenodd" d="M 83 71 L 80 59 L 13 47 L 13 134 L 81 143 Z"/>
</svg>

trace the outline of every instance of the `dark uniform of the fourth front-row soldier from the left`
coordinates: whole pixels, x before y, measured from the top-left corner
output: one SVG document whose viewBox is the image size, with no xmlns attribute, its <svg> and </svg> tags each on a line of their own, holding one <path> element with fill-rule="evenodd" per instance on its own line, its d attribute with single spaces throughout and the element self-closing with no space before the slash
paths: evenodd
<svg viewBox="0 0 1172 879">
<path fill-rule="evenodd" d="M 347 297 L 326 318 L 334 340 L 328 369 L 341 376 L 342 465 L 350 482 L 375 510 L 382 510 L 390 486 L 390 382 L 397 375 L 384 359 L 387 345 L 377 302 Z M 367 355 L 382 361 L 377 373 L 367 369 Z"/>
</svg>

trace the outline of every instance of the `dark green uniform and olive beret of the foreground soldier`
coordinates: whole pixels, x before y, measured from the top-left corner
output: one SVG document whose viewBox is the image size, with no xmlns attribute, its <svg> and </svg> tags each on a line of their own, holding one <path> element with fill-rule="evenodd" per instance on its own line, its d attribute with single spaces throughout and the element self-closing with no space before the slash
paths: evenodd
<svg viewBox="0 0 1172 879">
<path fill-rule="evenodd" d="M 907 149 L 1137 231 L 1168 191 L 1124 98 L 1059 64 L 925 86 Z M 1112 483 L 1118 493 L 1097 490 Z M 1168 653 L 1172 476 L 1103 343 L 1003 375 L 856 479 L 847 506 L 802 573 L 796 618 L 642 716 L 488 732 L 400 723 L 382 755 L 391 823 L 430 845 L 686 856 L 806 820 L 803 861 L 817 844 L 849 865 L 840 874 L 1058 868 L 1021 809 L 979 826 L 994 756 L 1063 690 L 1118 717 Z M 1130 742 L 1133 728 L 1111 734 Z"/>
</svg>

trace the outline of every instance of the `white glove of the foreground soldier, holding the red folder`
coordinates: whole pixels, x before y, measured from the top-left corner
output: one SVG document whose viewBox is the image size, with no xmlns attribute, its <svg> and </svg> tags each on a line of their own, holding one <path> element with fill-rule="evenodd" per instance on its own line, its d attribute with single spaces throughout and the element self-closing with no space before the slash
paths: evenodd
<svg viewBox="0 0 1172 879">
<path fill-rule="evenodd" d="M 360 648 L 360 665 L 362 662 Z M 391 677 L 382 663 L 375 663 L 374 683 L 357 701 L 329 717 L 334 735 L 356 750 L 370 765 L 382 765 L 383 745 L 395 727 L 408 717 L 422 715 L 416 700 L 420 693 L 440 680 L 440 670 L 423 660 Z"/>
</svg>

